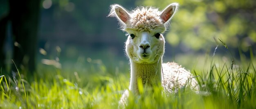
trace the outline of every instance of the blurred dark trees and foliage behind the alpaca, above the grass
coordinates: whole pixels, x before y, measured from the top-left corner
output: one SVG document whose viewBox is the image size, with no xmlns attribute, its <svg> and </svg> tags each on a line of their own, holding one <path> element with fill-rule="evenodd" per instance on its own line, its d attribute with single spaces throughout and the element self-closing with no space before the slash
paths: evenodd
<svg viewBox="0 0 256 109">
<path fill-rule="evenodd" d="M 107 17 L 110 5 L 162 10 L 172 2 L 180 8 L 164 34 L 164 62 L 202 68 L 218 44 L 219 60 L 230 61 L 229 52 L 238 60 L 256 54 L 255 0 L 0 0 L 1 68 L 13 70 L 13 59 L 31 74 L 45 66 L 82 74 L 128 73 L 127 37 L 117 20 Z"/>
</svg>

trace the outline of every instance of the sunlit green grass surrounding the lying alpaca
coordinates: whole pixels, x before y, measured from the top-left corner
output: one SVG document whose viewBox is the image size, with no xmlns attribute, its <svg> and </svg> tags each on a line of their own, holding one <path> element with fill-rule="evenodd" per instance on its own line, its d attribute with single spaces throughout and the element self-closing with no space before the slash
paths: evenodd
<svg viewBox="0 0 256 109">
<path fill-rule="evenodd" d="M 230 53 L 231 54 L 231 53 Z M 128 109 L 256 109 L 256 59 L 220 62 L 220 56 L 207 56 L 204 69 L 193 68 L 200 91 L 188 87 L 167 96 L 162 87 L 153 92 L 131 95 Z M 4 109 L 115 109 L 129 85 L 129 71 L 110 69 L 99 60 L 90 60 L 87 70 L 72 72 L 64 68 L 39 65 L 30 78 L 24 71 L 13 77 L 0 76 L 0 108 Z M 195 65 L 193 65 L 195 66 Z M 202 65 L 198 65 L 202 66 Z M 40 71 L 40 72 L 39 72 Z M 72 71 L 72 70 L 71 70 Z M 69 73 L 67 73 L 69 72 Z M 16 74 L 16 75 L 15 75 Z"/>
</svg>

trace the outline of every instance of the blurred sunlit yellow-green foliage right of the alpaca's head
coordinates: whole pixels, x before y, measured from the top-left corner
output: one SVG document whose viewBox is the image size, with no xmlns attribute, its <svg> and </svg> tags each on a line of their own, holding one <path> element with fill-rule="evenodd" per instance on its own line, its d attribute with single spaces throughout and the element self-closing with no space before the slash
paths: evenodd
<svg viewBox="0 0 256 109">
<path fill-rule="evenodd" d="M 164 9 L 172 2 L 180 4 L 166 34 L 172 46 L 206 50 L 216 45 L 213 37 L 218 37 L 246 52 L 256 42 L 255 0 L 138 0 L 137 5 Z"/>
</svg>

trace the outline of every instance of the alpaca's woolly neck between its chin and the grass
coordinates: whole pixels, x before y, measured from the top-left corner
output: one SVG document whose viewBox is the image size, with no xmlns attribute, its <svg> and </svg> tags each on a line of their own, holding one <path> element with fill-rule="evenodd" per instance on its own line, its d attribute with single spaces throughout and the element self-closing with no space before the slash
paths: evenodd
<svg viewBox="0 0 256 109">
<path fill-rule="evenodd" d="M 141 79 L 142 84 L 146 87 L 152 87 L 152 85 L 161 85 L 162 57 L 159 59 L 159 61 L 152 64 L 135 63 L 130 60 L 130 67 L 130 91 L 138 93 L 138 78 Z"/>
</svg>

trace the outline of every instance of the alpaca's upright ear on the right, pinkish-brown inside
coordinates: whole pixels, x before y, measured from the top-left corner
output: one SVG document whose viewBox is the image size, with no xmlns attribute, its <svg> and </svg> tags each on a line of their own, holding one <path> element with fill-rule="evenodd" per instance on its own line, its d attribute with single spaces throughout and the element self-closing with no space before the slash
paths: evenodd
<svg viewBox="0 0 256 109">
<path fill-rule="evenodd" d="M 160 14 L 160 18 L 164 23 L 168 22 L 168 20 L 171 20 L 173 17 L 174 13 L 178 10 L 179 4 L 178 3 L 172 3 L 168 7 L 162 11 Z"/>
</svg>

